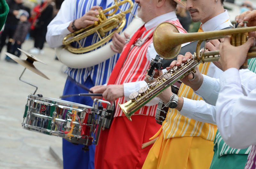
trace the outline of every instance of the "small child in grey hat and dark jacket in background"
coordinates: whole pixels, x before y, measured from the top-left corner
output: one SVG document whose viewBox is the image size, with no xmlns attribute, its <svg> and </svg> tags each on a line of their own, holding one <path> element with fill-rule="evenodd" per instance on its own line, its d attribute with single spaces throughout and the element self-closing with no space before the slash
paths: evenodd
<svg viewBox="0 0 256 169">
<path fill-rule="evenodd" d="M 20 21 L 15 30 L 15 33 L 12 38 L 9 39 L 9 42 L 12 42 L 11 54 L 20 57 L 21 44 L 25 41 L 26 35 L 30 29 L 30 23 L 28 22 L 29 14 L 27 11 L 22 10 L 20 13 Z M 12 59 L 7 60 L 8 62 L 13 62 Z M 15 61 L 14 61 L 15 62 Z M 16 62 L 15 62 L 16 63 Z"/>
</svg>

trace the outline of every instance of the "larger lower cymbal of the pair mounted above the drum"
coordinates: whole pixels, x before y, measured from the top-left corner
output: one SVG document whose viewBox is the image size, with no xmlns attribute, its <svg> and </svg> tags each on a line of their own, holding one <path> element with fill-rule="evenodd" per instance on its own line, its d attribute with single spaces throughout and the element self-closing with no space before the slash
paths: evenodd
<svg viewBox="0 0 256 169">
<path fill-rule="evenodd" d="M 12 55 L 12 54 L 10 54 L 10 53 L 8 53 L 8 52 L 5 52 L 5 54 L 6 54 L 7 56 L 9 56 L 9 57 L 10 57 L 12 60 L 14 60 L 15 62 L 20 63 L 20 64 L 21 64 L 22 66 L 24 66 L 25 68 L 28 68 L 29 70 L 31 70 L 32 72 L 34 72 L 34 73 L 36 73 L 36 74 L 38 74 L 38 75 L 40 75 L 40 76 L 42 76 L 42 77 L 44 77 L 44 78 L 46 78 L 46 79 L 49 79 L 49 77 L 47 77 L 46 75 L 44 75 L 44 73 L 42 73 L 41 71 L 39 71 L 38 69 L 36 69 L 36 67 L 35 67 L 31 62 L 28 61 L 28 60 L 33 61 L 33 60 L 35 60 L 34 58 L 33 58 L 33 60 L 32 60 L 32 59 L 30 59 L 31 57 L 29 56 L 27 60 L 22 60 L 22 59 L 20 59 L 19 57 L 15 56 L 15 55 Z M 50 80 L 50 79 L 49 79 L 49 80 Z"/>
</svg>

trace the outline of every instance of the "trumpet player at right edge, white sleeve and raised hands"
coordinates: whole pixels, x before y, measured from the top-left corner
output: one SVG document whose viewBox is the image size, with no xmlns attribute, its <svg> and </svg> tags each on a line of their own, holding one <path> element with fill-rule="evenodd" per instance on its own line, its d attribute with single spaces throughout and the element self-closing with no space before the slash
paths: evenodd
<svg viewBox="0 0 256 169">
<path fill-rule="evenodd" d="M 249 21 L 248 26 L 256 26 L 256 11 L 246 11 L 236 18 L 243 25 L 242 21 Z M 256 33 L 251 33 L 256 37 Z M 245 148 L 252 145 L 248 155 L 245 169 L 255 168 L 256 164 L 256 135 L 255 135 L 255 93 L 254 90 L 244 95 L 239 78 L 238 70 L 244 63 L 253 40 L 249 39 L 245 45 L 234 47 L 230 45 L 230 37 L 225 38 L 220 45 L 220 62 L 224 73 L 220 77 L 220 93 L 216 102 L 217 125 L 224 141 L 233 148 Z M 254 41 L 255 45 L 255 41 Z M 255 84 L 256 75 L 251 76 L 247 81 L 248 85 Z"/>
</svg>

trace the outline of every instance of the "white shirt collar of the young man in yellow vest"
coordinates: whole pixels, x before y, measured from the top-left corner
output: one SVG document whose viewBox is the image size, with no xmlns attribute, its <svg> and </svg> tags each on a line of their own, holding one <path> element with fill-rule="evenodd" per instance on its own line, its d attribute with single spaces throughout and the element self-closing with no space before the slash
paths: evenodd
<svg viewBox="0 0 256 169">
<path fill-rule="evenodd" d="M 225 10 L 223 13 L 217 15 L 216 17 L 208 20 L 207 22 L 201 25 L 204 32 L 221 30 L 226 27 L 232 26 L 229 20 L 229 15 L 227 10 Z"/>
</svg>

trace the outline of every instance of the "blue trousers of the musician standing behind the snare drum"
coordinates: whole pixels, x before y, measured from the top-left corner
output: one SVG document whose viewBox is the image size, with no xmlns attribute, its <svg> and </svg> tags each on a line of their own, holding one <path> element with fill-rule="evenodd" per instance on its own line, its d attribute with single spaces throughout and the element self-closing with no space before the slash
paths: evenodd
<svg viewBox="0 0 256 169">
<path fill-rule="evenodd" d="M 75 85 L 67 78 L 63 95 L 88 93 L 85 89 Z M 84 85 L 88 88 L 93 87 L 90 77 L 87 78 Z M 73 96 L 63 98 L 63 100 L 72 101 L 87 106 L 92 106 L 93 100 L 91 97 Z M 74 145 L 65 139 L 62 139 L 62 153 L 63 153 L 63 168 L 64 169 L 94 169 L 94 154 L 95 144 L 89 146 L 89 151 L 84 152 L 82 148 L 84 145 Z"/>
</svg>

